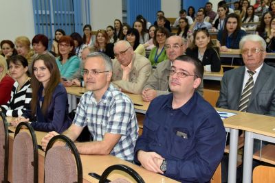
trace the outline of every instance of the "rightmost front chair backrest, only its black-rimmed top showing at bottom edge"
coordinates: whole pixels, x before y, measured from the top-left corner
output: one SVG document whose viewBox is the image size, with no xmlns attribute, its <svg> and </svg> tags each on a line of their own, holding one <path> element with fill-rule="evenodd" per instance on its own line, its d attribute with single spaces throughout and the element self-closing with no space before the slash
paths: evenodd
<svg viewBox="0 0 275 183">
<path fill-rule="evenodd" d="M 107 169 L 105 169 L 100 177 L 99 183 L 104 183 L 107 180 L 108 175 L 114 171 L 114 170 L 120 170 L 120 171 L 124 171 L 125 173 L 128 173 L 129 175 L 131 175 L 131 177 L 137 182 L 137 183 L 144 183 L 144 180 L 142 179 L 142 177 L 133 169 L 131 169 L 130 167 L 124 165 L 124 164 L 114 164 L 110 167 L 108 167 Z M 123 180 L 123 179 L 118 179 L 118 180 L 113 180 L 112 182 L 121 182 L 121 183 L 126 183 L 128 181 Z"/>
</svg>

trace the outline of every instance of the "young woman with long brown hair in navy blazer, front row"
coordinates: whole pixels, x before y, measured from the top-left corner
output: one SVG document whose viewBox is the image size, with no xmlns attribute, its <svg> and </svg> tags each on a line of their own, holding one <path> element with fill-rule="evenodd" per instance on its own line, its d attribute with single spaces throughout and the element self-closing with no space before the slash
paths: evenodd
<svg viewBox="0 0 275 183">
<path fill-rule="evenodd" d="M 44 54 L 35 58 L 32 66 L 31 110 L 12 121 L 15 127 L 29 121 L 34 130 L 62 133 L 72 124 L 68 115 L 68 99 L 54 58 Z"/>
</svg>

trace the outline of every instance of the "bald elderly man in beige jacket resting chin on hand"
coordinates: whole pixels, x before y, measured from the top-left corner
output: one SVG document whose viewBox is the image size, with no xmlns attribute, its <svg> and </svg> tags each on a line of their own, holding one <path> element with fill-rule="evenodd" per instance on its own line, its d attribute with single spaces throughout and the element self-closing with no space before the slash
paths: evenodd
<svg viewBox="0 0 275 183">
<path fill-rule="evenodd" d="M 142 88 L 151 75 L 151 62 L 138 53 L 126 40 L 120 40 L 113 47 L 112 84 L 127 93 L 141 94 Z"/>
</svg>

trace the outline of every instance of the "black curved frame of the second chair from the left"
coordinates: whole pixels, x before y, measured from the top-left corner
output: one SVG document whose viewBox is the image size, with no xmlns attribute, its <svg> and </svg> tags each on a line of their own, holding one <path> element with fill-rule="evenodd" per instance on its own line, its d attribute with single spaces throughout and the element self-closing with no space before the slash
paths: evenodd
<svg viewBox="0 0 275 183">
<path fill-rule="evenodd" d="M 21 122 L 19 123 L 19 125 L 17 125 L 17 128 L 14 132 L 14 139 L 17 136 L 17 134 L 20 132 L 21 127 L 25 126 L 28 128 L 28 130 L 30 131 L 30 135 L 32 136 L 32 144 L 34 147 L 34 162 L 33 162 L 33 166 L 34 166 L 34 182 L 39 182 L 39 151 L 38 151 L 38 145 L 37 145 L 37 140 L 36 140 L 36 134 L 34 132 L 34 128 L 32 127 L 32 125 L 30 125 L 30 123 L 28 122 Z"/>
</svg>

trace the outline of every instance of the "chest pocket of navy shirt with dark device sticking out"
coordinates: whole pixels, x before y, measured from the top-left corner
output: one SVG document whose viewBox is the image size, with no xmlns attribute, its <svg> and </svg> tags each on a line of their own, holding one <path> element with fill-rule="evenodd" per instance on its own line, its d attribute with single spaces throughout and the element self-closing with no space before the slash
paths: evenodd
<svg viewBox="0 0 275 183">
<path fill-rule="evenodd" d="M 184 136 L 178 136 L 177 132 L 186 134 L 187 138 L 184 138 Z M 173 129 L 173 133 L 170 134 L 168 139 L 169 140 L 166 141 L 168 154 L 170 154 L 170 156 L 173 156 L 174 158 L 186 158 L 186 155 L 189 154 L 192 149 L 193 141 L 190 133 L 188 132 L 188 129 L 175 127 Z"/>
</svg>

